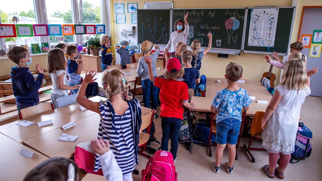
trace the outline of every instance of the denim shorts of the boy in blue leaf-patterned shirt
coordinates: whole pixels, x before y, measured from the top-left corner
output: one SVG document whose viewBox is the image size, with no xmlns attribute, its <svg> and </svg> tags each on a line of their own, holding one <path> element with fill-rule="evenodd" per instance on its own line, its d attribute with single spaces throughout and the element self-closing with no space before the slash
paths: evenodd
<svg viewBox="0 0 322 181">
<path fill-rule="evenodd" d="M 226 143 L 236 145 L 240 126 L 241 122 L 238 119 L 223 119 L 217 123 L 216 142 L 221 145 Z"/>
</svg>

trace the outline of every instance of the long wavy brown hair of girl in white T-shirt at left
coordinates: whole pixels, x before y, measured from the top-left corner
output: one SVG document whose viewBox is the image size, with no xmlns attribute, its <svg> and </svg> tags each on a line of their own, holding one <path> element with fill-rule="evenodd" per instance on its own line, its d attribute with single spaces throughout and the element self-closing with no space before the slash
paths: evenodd
<svg viewBox="0 0 322 181">
<path fill-rule="evenodd" d="M 53 48 L 47 54 L 47 71 L 53 73 L 58 70 L 66 70 L 65 55 L 62 49 Z"/>
</svg>

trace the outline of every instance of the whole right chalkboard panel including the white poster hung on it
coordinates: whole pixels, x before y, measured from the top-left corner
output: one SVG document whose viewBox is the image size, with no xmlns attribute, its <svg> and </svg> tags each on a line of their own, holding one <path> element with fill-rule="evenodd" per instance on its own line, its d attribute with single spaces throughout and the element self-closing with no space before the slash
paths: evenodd
<svg viewBox="0 0 322 181">
<path fill-rule="evenodd" d="M 277 11 L 278 15 L 276 18 Z M 293 7 L 248 9 L 245 43 L 243 48 L 244 52 L 254 51 L 257 53 L 271 53 L 276 51 L 287 54 L 293 22 L 293 12 Z M 276 26 L 275 38 L 274 36 L 267 35 L 273 33 L 274 26 Z M 274 42 L 269 44 L 270 42 L 267 41 Z M 256 44 L 260 46 L 256 46 Z"/>
</svg>

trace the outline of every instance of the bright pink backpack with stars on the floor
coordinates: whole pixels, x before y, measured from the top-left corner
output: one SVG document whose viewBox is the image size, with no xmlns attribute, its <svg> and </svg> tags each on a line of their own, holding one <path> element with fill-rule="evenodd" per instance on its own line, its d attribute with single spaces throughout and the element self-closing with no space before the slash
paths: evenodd
<svg viewBox="0 0 322 181">
<path fill-rule="evenodd" d="M 147 161 L 142 170 L 142 181 L 177 181 L 173 156 L 168 151 L 159 150 Z"/>
</svg>

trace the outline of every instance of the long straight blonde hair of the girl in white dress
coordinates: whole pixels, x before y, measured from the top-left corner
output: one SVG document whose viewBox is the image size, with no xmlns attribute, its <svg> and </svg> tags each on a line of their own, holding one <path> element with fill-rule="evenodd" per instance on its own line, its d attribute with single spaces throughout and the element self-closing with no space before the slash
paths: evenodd
<svg viewBox="0 0 322 181">
<path fill-rule="evenodd" d="M 308 87 L 307 79 L 305 62 L 294 58 L 286 62 L 280 84 L 284 85 L 285 89 L 301 90 Z"/>
</svg>

